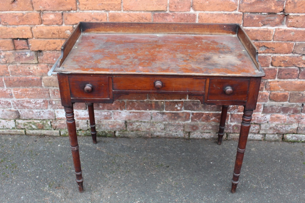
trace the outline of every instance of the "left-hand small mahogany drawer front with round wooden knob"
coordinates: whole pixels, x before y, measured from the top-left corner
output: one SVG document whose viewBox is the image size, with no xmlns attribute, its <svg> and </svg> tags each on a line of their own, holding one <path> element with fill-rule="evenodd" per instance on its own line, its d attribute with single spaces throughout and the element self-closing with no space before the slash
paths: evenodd
<svg viewBox="0 0 305 203">
<path fill-rule="evenodd" d="M 69 86 L 71 98 L 109 98 L 108 77 L 105 76 L 71 75 Z M 88 92 L 85 91 L 85 87 L 89 88 L 86 89 Z"/>
</svg>

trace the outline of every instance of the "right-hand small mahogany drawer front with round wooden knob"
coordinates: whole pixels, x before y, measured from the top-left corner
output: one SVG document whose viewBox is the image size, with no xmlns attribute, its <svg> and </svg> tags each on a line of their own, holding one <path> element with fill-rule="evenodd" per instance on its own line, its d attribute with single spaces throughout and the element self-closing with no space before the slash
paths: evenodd
<svg viewBox="0 0 305 203">
<path fill-rule="evenodd" d="M 210 79 L 207 100 L 246 101 L 249 79 Z"/>
</svg>

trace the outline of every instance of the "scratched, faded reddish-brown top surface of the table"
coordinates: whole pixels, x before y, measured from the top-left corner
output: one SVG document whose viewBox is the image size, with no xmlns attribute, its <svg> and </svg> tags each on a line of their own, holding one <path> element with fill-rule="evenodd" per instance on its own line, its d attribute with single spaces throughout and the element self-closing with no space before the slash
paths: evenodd
<svg viewBox="0 0 305 203">
<path fill-rule="evenodd" d="M 62 73 L 261 77 L 236 35 L 82 33 Z"/>
</svg>

